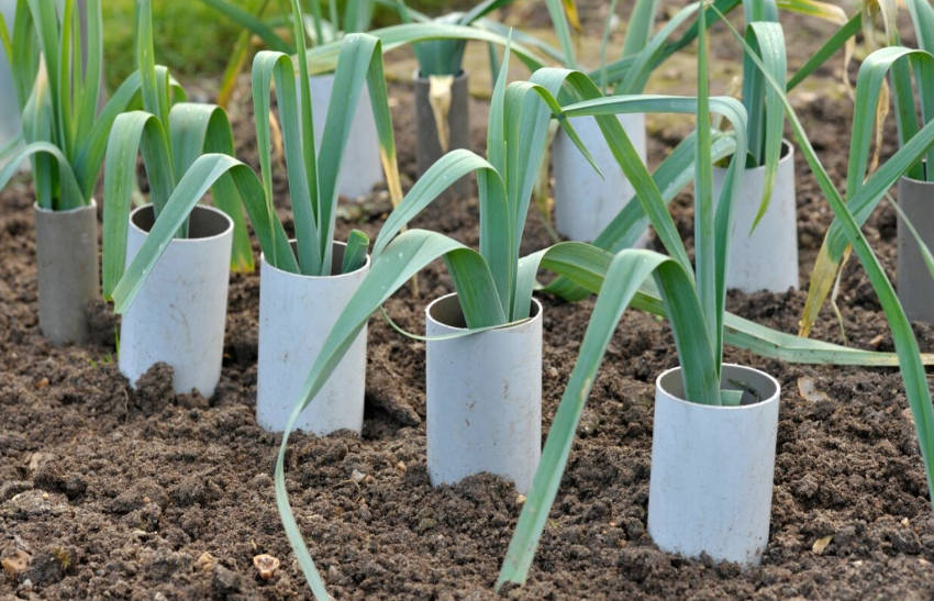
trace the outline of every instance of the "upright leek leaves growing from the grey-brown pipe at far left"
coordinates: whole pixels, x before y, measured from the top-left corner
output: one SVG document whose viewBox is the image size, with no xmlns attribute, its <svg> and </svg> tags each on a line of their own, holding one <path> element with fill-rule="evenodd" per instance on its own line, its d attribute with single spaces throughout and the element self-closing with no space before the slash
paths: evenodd
<svg viewBox="0 0 934 601">
<path fill-rule="evenodd" d="M 82 29 L 80 23 L 86 23 Z M 5 187 L 20 163 L 32 160 L 40 208 L 87 207 L 116 115 L 140 90 L 133 74 L 98 110 L 103 64 L 101 0 L 19 0 L 12 32 L 0 15 L 0 42 L 10 60 L 22 135 L 0 151 Z M 20 142 L 25 145 L 18 147 Z"/>
</svg>

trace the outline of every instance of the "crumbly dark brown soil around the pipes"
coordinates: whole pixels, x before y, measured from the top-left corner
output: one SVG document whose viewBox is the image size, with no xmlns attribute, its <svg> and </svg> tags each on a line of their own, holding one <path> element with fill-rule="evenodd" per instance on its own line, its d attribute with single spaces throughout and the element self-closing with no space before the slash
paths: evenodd
<svg viewBox="0 0 934 601">
<path fill-rule="evenodd" d="M 410 90 L 392 93 L 400 160 L 411 179 Z M 487 108 L 471 102 L 481 151 Z M 843 101 L 801 107 L 838 182 L 850 112 Z M 252 137 L 243 107 L 237 122 L 238 135 Z M 677 136 L 653 137 L 653 156 L 663 156 Z M 798 158 L 803 283 L 830 210 Z M 0 193 L 0 598 L 309 597 L 276 512 L 279 437 L 254 420 L 258 275 L 232 277 L 213 398 L 173 394 L 165 366 L 133 391 L 114 365 L 114 321 L 105 307 L 91 308 L 91 344 L 54 348 L 40 335 L 31 202 L 25 183 Z M 363 209 L 348 211 L 356 216 L 341 221 L 341 235 L 351 226 L 375 233 L 387 208 L 386 194 L 376 192 Z M 675 213 L 689 230 L 689 196 L 678 199 Z M 429 212 L 420 225 L 476 244 L 476 220 L 474 199 Z M 865 231 L 891 272 L 891 209 L 878 210 Z M 524 251 L 548 242 L 533 212 Z M 388 303 L 393 319 L 414 331 L 425 304 L 451 290 L 441 264 L 420 281 L 418 297 L 405 288 Z M 542 300 L 547 432 L 592 300 Z M 731 293 L 730 308 L 794 332 L 803 300 L 802 291 Z M 845 270 L 841 309 L 850 343 L 891 348 L 856 260 Z M 329 590 L 338 598 L 493 597 L 520 510 L 516 492 L 490 476 L 430 486 L 424 345 L 379 318 L 369 332 L 363 436 L 296 435 L 288 459 L 292 505 Z M 918 333 L 922 348 L 934 347 L 934 331 L 918 326 Z M 829 309 L 815 336 L 840 342 Z M 732 348 L 726 358 L 774 374 L 783 388 L 761 566 L 687 560 L 659 552 L 648 537 L 653 382 L 677 357 L 665 322 L 627 312 L 585 410 L 529 583 L 509 597 L 934 596 L 934 524 L 898 371 L 786 365 Z M 799 393 L 802 378 L 823 394 Z M 270 580 L 253 566 L 264 553 L 281 561 Z"/>
</svg>

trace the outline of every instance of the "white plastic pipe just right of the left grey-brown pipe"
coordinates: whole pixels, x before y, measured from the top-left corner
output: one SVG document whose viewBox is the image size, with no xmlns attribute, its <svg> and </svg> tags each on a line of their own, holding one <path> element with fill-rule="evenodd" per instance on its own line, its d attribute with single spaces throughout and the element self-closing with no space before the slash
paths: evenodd
<svg viewBox="0 0 934 601">
<path fill-rule="evenodd" d="M 130 214 L 126 265 L 153 225 L 153 207 Z M 233 222 L 199 204 L 189 237 L 166 247 L 120 325 L 120 371 L 135 386 L 159 361 L 175 370 L 176 393 L 210 398 L 221 377 Z"/>
</svg>

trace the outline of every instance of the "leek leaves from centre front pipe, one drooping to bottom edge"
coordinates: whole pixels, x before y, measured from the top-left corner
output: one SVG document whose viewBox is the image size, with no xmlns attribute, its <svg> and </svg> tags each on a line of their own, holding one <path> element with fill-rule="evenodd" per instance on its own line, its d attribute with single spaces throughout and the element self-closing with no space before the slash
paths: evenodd
<svg viewBox="0 0 934 601">
<path fill-rule="evenodd" d="M 508 47 L 505 65 L 509 53 Z M 370 271 L 327 336 L 286 426 L 276 467 L 277 504 L 302 571 L 314 594 L 321 599 L 327 593 L 288 502 L 285 450 L 296 419 L 326 381 L 369 315 L 424 266 L 443 257 L 471 333 L 529 316 L 538 255 L 531 261 L 520 260 L 519 248 L 532 186 L 547 138 L 547 123 L 558 110 L 554 94 L 566 82 L 592 94 L 599 91 L 582 75 L 556 69 L 543 69 L 530 82 L 507 86 L 507 70 L 500 70 L 493 90 L 487 159 L 466 149 L 449 152 L 415 182 L 390 214 L 375 242 Z M 565 123 L 565 126 L 569 136 L 578 141 L 569 125 Z M 625 135 L 621 129 L 619 134 Z M 448 186 L 471 171 L 477 171 L 479 182 L 479 252 L 438 233 L 402 232 L 407 223 Z M 577 254 L 576 249 L 586 253 L 585 245 L 577 243 L 564 243 L 552 252 L 565 257 L 567 270 L 579 271 L 586 278 L 586 264 L 578 266 L 586 256 Z"/>
</svg>

